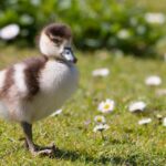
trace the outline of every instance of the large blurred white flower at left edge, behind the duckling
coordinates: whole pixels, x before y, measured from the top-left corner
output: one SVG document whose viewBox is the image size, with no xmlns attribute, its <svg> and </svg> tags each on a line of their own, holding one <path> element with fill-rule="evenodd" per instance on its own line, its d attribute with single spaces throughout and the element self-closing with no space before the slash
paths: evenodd
<svg viewBox="0 0 166 166">
<path fill-rule="evenodd" d="M 14 39 L 20 33 L 18 24 L 9 24 L 0 30 L 0 38 L 3 40 Z"/>
</svg>

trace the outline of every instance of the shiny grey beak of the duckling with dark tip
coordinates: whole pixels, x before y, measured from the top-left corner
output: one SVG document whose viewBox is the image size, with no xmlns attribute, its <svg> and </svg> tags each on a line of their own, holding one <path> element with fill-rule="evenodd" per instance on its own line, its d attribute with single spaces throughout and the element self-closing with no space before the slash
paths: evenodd
<svg viewBox="0 0 166 166">
<path fill-rule="evenodd" d="M 71 48 L 64 48 L 62 52 L 62 56 L 69 62 L 73 62 L 73 63 L 77 62 L 77 59 L 74 56 Z"/>
</svg>

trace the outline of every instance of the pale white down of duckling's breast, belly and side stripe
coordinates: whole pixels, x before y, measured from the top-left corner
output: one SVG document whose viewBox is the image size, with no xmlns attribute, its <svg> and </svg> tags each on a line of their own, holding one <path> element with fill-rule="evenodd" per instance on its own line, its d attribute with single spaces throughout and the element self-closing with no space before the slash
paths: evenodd
<svg viewBox="0 0 166 166">
<path fill-rule="evenodd" d="M 22 94 L 27 91 L 23 68 L 17 66 L 14 81 L 7 104 L 0 101 L 0 116 L 10 121 L 35 122 L 46 117 L 71 96 L 77 87 L 77 71 L 73 64 L 66 65 L 53 60 L 46 62 L 40 75 L 40 92 L 30 101 Z M 0 80 L 3 73 L 0 72 Z M 21 94 L 21 95 L 20 95 Z"/>
</svg>

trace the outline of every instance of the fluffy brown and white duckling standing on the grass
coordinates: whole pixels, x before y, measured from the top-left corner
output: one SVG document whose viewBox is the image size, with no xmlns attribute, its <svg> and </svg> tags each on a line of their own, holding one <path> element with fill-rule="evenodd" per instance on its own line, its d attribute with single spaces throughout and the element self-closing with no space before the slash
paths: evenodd
<svg viewBox="0 0 166 166">
<path fill-rule="evenodd" d="M 51 154 L 32 139 L 32 123 L 46 117 L 71 96 L 77 86 L 72 34 L 65 24 L 45 27 L 39 39 L 41 55 L 0 71 L 0 116 L 21 124 L 32 154 Z"/>
</svg>

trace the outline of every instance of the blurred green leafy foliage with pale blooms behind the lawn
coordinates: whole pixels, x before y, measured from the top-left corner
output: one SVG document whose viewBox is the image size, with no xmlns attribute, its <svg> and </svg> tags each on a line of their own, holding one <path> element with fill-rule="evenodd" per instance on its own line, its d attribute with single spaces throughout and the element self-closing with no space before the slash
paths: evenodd
<svg viewBox="0 0 166 166">
<path fill-rule="evenodd" d="M 74 33 L 74 45 L 83 51 L 163 53 L 165 7 L 165 0 L 6 0 L 0 4 L 0 29 L 14 23 L 20 32 L 0 44 L 33 46 L 45 24 L 65 22 Z"/>
</svg>

